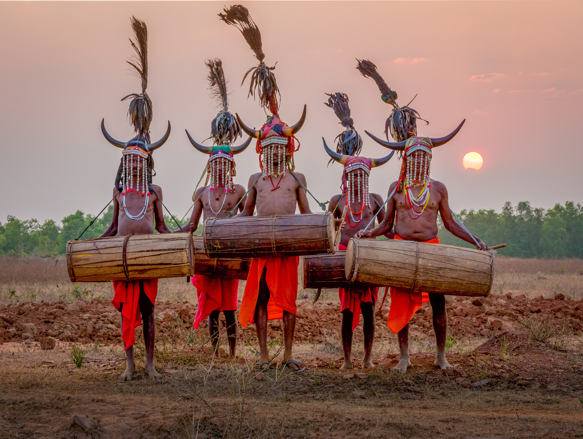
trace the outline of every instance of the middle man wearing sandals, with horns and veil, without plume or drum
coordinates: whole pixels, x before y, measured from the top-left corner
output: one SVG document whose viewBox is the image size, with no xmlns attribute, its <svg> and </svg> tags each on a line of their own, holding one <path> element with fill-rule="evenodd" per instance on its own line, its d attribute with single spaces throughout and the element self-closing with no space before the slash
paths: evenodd
<svg viewBox="0 0 583 439">
<path fill-rule="evenodd" d="M 276 115 L 260 131 L 251 130 L 238 120 L 245 133 L 258 138 L 262 172 L 249 177 L 248 187 L 251 190 L 243 211 L 236 216 L 251 217 L 255 208 L 259 217 L 293 215 L 296 213 L 296 205 L 300 214 L 311 213 L 304 189 L 307 184 L 305 176 L 293 172 L 291 166 L 295 150 L 294 131 L 291 130 L 299 130 L 304 123 L 305 106 L 300 121 L 294 127 L 287 127 Z M 297 256 L 254 257 L 251 260 L 239 311 L 239 323 L 243 327 L 248 323 L 255 323 L 257 327 L 258 370 L 271 366 L 272 359 L 267 347 L 267 321 L 275 319 L 283 319 L 283 361 L 293 371 L 305 370 L 305 364 L 296 360 L 291 353 L 296 330 L 298 261 Z"/>
</svg>

